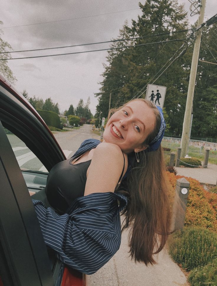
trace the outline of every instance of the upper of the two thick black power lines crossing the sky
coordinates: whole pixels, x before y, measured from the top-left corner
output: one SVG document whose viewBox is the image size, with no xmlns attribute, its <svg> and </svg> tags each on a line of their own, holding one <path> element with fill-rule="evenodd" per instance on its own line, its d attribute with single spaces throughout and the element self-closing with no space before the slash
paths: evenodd
<svg viewBox="0 0 217 286">
<path fill-rule="evenodd" d="M 190 30 L 193 30 L 193 29 L 180 30 L 180 31 L 172 32 L 172 33 L 181 33 L 181 32 L 186 32 L 186 31 L 190 31 Z M 62 47 L 33 49 L 33 50 L 19 50 L 19 51 L 10 51 L 10 52 L 0 52 L 0 54 L 7 54 L 7 53 L 21 53 L 21 52 L 33 52 L 33 51 L 41 51 L 41 50 L 53 50 L 53 49 L 62 49 L 62 48 L 72 48 L 72 47 L 79 47 L 79 46 L 86 46 L 86 45 L 96 45 L 96 44 L 105 44 L 105 43 L 115 43 L 115 42 L 121 42 L 121 41 L 129 41 L 129 40 L 136 40 L 136 39 L 149 38 L 149 37 L 154 37 L 154 36 L 168 35 L 168 34 L 170 34 L 170 32 L 161 33 L 161 34 L 154 34 L 154 35 L 148 35 L 148 36 L 142 36 L 142 37 L 133 37 L 133 38 L 125 38 L 125 39 L 110 40 L 110 41 L 97 42 L 97 43 L 87 43 L 87 44 L 78 44 L 78 45 L 69 45 L 69 46 L 62 46 Z"/>
</svg>

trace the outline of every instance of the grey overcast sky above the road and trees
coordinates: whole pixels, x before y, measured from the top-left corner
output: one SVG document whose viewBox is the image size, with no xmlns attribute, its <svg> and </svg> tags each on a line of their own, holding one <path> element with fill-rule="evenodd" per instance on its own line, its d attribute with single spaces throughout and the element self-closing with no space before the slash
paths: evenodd
<svg viewBox="0 0 217 286">
<path fill-rule="evenodd" d="M 14 51 L 50 48 L 109 41 L 119 35 L 124 21 L 137 19 L 141 14 L 138 0 L 1 0 L 1 36 Z M 189 12 L 189 0 L 178 0 Z M 192 1 L 191 1 L 192 2 Z M 144 1 L 141 1 L 144 4 Z M 217 0 L 206 0 L 205 20 L 217 13 Z M 190 17 L 194 23 L 198 15 Z M 58 21 L 58 22 L 57 22 Z M 51 22 L 51 23 L 45 23 Z M 16 26 L 16 27 L 14 27 Z M 19 27 L 20 26 L 20 27 Z M 12 53 L 12 57 L 71 53 L 108 48 L 109 44 L 80 46 Z M 60 111 L 77 106 L 90 96 L 93 115 L 98 103 L 94 93 L 99 91 L 106 51 L 62 55 L 56 57 L 18 59 L 8 61 L 17 82 L 15 88 L 24 89 L 30 97 L 51 97 Z"/>
</svg>

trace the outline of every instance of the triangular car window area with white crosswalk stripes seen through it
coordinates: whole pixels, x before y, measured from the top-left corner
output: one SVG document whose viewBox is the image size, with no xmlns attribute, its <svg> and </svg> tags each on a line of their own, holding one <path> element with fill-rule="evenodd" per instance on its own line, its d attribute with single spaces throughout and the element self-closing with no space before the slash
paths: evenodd
<svg viewBox="0 0 217 286">
<path fill-rule="evenodd" d="M 21 170 L 32 170 L 47 172 L 47 169 L 37 156 L 26 146 L 26 144 L 14 135 L 11 131 L 4 128 L 7 138 L 14 151 L 15 157 Z"/>
</svg>

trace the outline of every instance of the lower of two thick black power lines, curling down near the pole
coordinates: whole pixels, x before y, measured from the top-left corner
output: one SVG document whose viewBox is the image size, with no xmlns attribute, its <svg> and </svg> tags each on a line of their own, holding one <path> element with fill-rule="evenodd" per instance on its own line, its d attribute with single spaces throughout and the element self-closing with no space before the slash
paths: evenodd
<svg viewBox="0 0 217 286">
<path fill-rule="evenodd" d="M 123 48 L 132 48 L 132 47 L 139 47 L 139 46 L 146 46 L 146 45 L 154 45 L 154 44 L 161 44 L 161 43 L 168 43 L 168 42 L 188 42 L 185 40 L 168 40 L 168 41 L 161 41 L 161 42 L 154 42 L 154 43 L 146 43 L 146 44 L 139 44 L 139 45 L 131 45 L 131 46 L 123 46 L 123 47 L 116 47 L 116 48 L 106 48 L 106 49 L 100 49 L 100 50 L 90 50 L 90 51 L 83 51 L 83 52 L 73 52 L 73 53 L 62 53 L 62 54 L 54 54 L 54 55 L 39 55 L 39 56 L 32 56 L 32 57 L 23 57 L 23 58 L 6 58 L 6 59 L 0 59 L 0 61 L 7 61 L 7 60 L 19 60 L 19 59 L 26 59 L 26 58 L 45 58 L 45 57 L 54 57 L 58 55 L 73 55 L 73 54 L 82 54 L 82 53 L 90 53 L 90 52 L 99 52 L 99 51 L 105 51 L 105 50 L 118 50 Z"/>
</svg>

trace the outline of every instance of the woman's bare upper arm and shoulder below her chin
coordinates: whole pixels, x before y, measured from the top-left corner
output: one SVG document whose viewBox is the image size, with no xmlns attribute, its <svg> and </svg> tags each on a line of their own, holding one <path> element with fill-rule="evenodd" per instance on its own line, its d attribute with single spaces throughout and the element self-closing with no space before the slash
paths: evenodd
<svg viewBox="0 0 217 286">
<path fill-rule="evenodd" d="M 99 144 L 88 168 L 84 195 L 95 192 L 114 192 L 123 167 L 124 174 L 127 169 L 127 156 L 124 156 L 125 165 L 119 146 L 106 142 Z"/>
</svg>

